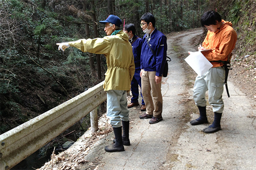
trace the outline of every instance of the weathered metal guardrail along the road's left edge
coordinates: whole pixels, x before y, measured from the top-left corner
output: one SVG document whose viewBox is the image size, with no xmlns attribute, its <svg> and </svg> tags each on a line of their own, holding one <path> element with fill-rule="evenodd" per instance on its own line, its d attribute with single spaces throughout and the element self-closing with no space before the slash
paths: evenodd
<svg viewBox="0 0 256 170">
<path fill-rule="evenodd" d="M 106 101 L 104 82 L 0 135 L 0 170 L 15 166 L 91 112 L 98 129 L 97 106 Z M 96 109 L 95 109 L 96 108 Z"/>
</svg>

